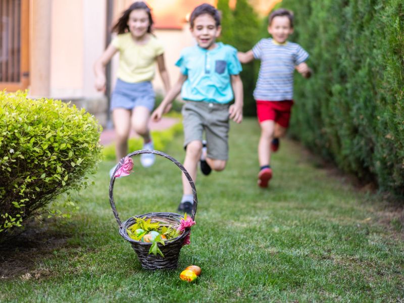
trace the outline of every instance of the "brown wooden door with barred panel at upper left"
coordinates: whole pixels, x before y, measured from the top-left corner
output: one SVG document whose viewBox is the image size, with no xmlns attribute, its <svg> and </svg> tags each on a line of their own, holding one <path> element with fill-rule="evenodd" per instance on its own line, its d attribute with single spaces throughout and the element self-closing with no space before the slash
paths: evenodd
<svg viewBox="0 0 404 303">
<path fill-rule="evenodd" d="M 0 0 L 0 90 L 29 84 L 29 0 Z"/>
</svg>

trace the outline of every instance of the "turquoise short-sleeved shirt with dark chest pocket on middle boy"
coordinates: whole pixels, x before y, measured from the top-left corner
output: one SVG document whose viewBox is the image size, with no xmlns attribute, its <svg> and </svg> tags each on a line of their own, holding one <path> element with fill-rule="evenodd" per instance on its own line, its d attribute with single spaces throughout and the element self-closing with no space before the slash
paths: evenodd
<svg viewBox="0 0 404 303">
<path fill-rule="evenodd" d="M 233 100 L 231 75 L 241 72 L 237 49 L 217 42 L 213 49 L 186 47 L 176 62 L 187 76 L 181 88 L 184 100 L 226 104 Z"/>
</svg>

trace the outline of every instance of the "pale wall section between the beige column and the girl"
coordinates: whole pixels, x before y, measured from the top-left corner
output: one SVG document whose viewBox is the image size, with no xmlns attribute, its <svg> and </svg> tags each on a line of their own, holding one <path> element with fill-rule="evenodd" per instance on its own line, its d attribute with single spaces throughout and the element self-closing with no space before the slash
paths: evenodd
<svg viewBox="0 0 404 303">
<path fill-rule="evenodd" d="M 53 0 L 52 16 L 51 95 L 101 96 L 92 66 L 105 47 L 106 1 Z"/>
</svg>

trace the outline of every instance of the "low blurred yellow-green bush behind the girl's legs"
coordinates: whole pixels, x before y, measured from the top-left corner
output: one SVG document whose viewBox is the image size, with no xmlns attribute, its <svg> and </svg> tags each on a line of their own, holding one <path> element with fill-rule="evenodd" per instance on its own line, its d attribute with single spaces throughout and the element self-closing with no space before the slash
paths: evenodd
<svg viewBox="0 0 404 303">
<path fill-rule="evenodd" d="M 178 117 L 178 115 L 176 115 Z M 167 144 L 171 142 L 174 136 L 182 132 L 182 123 L 174 124 L 169 129 L 163 131 L 151 131 L 151 137 L 156 150 L 164 151 Z M 128 140 L 128 149 L 130 151 L 142 149 L 143 140 L 141 138 L 130 138 Z M 105 160 L 115 161 L 115 144 L 104 147 L 103 155 Z"/>
</svg>

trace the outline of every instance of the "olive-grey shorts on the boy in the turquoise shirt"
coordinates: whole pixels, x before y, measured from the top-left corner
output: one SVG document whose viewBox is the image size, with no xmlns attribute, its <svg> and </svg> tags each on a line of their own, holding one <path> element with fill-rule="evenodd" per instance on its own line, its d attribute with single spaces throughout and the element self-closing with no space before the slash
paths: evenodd
<svg viewBox="0 0 404 303">
<path fill-rule="evenodd" d="M 184 148 L 192 141 L 202 141 L 205 131 L 208 158 L 228 159 L 229 104 L 186 101 L 182 116 Z"/>
</svg>

